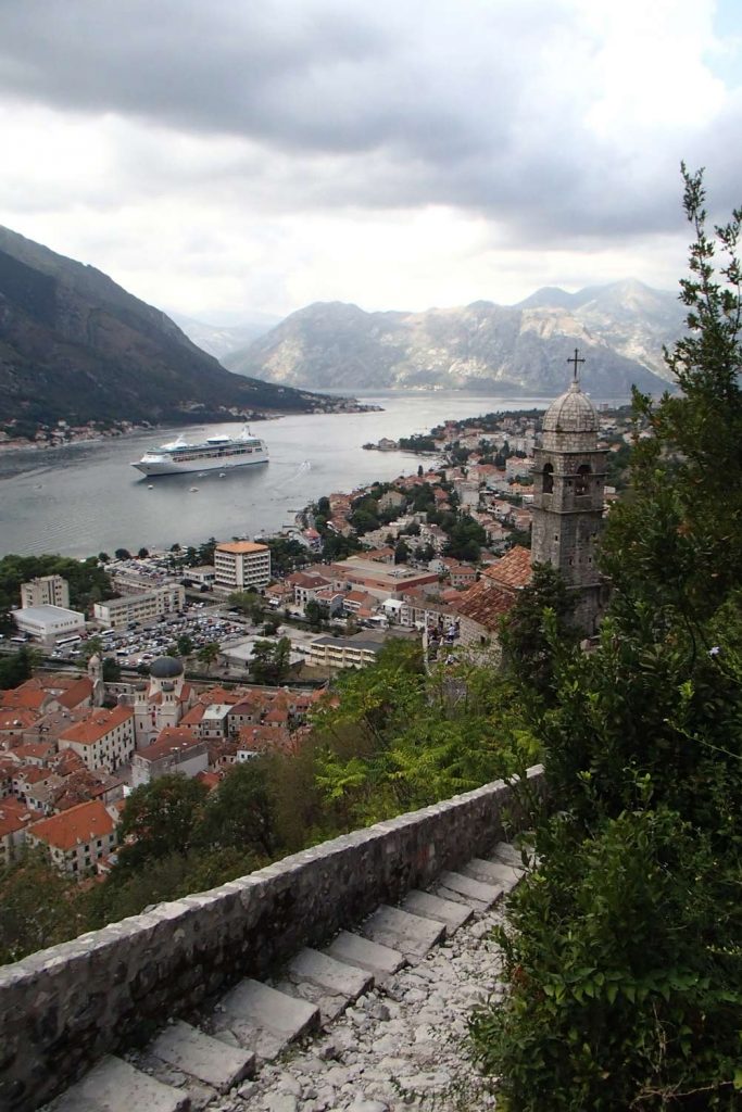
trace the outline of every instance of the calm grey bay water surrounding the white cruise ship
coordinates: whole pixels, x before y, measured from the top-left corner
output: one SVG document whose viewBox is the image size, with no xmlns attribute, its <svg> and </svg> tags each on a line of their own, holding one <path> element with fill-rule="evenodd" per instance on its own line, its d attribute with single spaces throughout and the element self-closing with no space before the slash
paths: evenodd
<svg viewBox="0 0 742 1112">
<path fill-rule="evenodd" d="M 268 444 L 261 467 L 147 479 L 129 466 L 147 448 L 172 439 L 162 430 L 42 451 L 0 453 L 0 555 L 60 553 L 88 556 L 197 544 L 275 530 L 293 522 L 308 502 L 350 490 L 373 479 L 417 470 L 405 453 L 364 451 L 382 436 L 426 433 L 448 418 L 497 409 L 546 406 L 551 399 L 465 397 L 458 394 L 394 395 L 365 399 L 384 413 L 301 415 L 254 426 Z M 208 426 L 208 435 L 238 431 Z M 202 425 L 182 430 L 190 438 Z M 152 489 L 149 489 L 151 483 Z M 198 493 L 191 493 L 192 486 Z"/>
</svg>

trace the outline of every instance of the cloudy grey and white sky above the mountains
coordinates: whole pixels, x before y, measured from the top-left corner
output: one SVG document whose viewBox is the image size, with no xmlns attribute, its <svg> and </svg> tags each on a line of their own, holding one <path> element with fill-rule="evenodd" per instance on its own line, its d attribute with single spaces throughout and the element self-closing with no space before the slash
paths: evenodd
<svg viewBox="0 0 742 1112">
<path fill-rule="evenodd" d="M 739 0 L 2 0 L 0 224 L 211 322 L 676 288 Z"/>
</svg>

